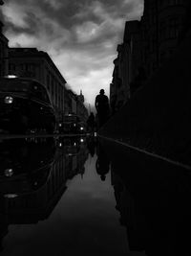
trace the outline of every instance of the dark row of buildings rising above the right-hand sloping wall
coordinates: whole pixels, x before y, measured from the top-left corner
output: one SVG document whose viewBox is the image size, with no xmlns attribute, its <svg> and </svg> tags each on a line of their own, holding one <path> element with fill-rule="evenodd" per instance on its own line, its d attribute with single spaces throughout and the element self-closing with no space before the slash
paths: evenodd
<svg viewBox="0 0 191 256">
<path fill-rule="evenodd" d="M 174 54 L 189 5 L 188 0 L 144 0 L 140 21 L 126 22 L 123 43 L 117 46 L 114 60 L 112 109 L 124 105 Z"/>
</svg>

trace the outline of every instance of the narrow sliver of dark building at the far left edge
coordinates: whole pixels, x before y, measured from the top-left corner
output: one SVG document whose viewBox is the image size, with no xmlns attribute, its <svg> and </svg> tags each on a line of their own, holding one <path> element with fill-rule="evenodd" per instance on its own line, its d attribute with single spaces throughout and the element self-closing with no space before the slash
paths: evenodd
<svg viewBox="0 0 191 256">
<path fill-rule="evenodd" d="M 3 35 L 3 23 L 0 21 L 0 77 L 8 75 L 8 38 Z"/>
</svg>

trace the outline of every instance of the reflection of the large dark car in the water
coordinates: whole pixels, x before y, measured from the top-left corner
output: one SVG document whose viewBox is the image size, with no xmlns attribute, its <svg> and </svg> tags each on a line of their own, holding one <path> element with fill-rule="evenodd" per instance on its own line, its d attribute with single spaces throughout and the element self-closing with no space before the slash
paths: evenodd
<svg viewBox="0 0 191 256">
<path fill-rule="evenodd" d="M 1 194 L 5 198 L 16 198 L 41 187 L 50 173 L 54 153 L 53 138 L 1 141 Z"/>
</svg>

